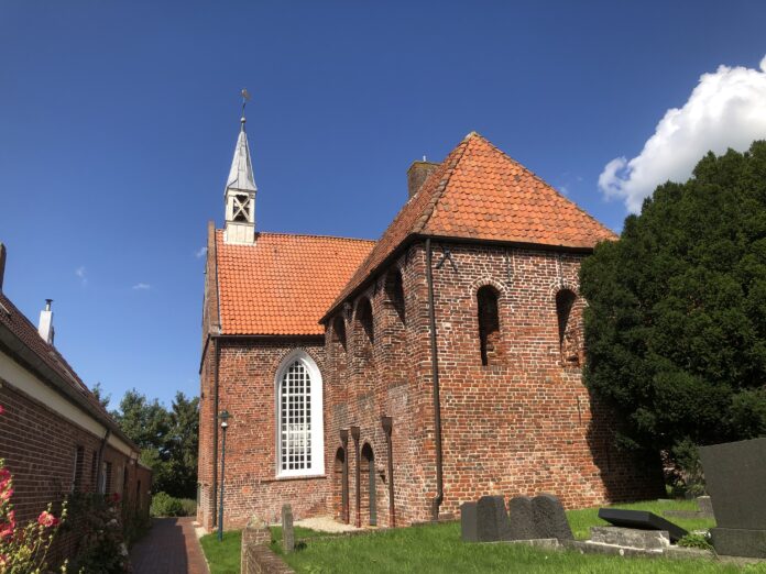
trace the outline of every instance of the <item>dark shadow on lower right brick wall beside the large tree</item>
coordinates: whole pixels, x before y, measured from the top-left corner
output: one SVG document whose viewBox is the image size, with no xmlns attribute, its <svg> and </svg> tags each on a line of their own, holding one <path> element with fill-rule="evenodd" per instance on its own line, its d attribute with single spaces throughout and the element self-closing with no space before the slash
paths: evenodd
<svg viewBox="0 0 766 574">
<path fill-rule="evenodd" d="M 658 453 L 631 452 L 615 444 L 622 423 L 614 408 L 589 389 L 591 423 L 588 445 L 611 503 L 664 498 L 665 481 Z"/>
</svg>

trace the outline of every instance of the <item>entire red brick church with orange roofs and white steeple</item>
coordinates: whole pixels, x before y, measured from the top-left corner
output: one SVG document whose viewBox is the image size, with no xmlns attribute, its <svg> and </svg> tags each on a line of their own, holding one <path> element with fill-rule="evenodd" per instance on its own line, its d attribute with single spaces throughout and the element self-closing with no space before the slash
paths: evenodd
<svg viewBox="0 0 766 574">
<path fill-rule="evenodd" d="M 614 233 L 477 133 L 407 181 L 377 241 L 261 231 L 241 120 L 208 225 L 199 522 L 222 478 L 226 528 L 285 503 L 391 527 L 486 494 L 661 496 L 582 382 L 579 268 Z"/>
</svg>

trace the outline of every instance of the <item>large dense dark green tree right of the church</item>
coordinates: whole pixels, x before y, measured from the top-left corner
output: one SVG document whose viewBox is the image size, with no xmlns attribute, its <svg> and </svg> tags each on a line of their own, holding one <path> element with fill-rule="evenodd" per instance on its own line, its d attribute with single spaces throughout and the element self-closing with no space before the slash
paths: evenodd
<svg viewBox="0 0 766 574">
<path fill-rule="evenodd" d="M 659 186 L 581 269 L 586 382 L 623 446 L 690 455 L 766 433 L 766 142 Z"/>
</svg>

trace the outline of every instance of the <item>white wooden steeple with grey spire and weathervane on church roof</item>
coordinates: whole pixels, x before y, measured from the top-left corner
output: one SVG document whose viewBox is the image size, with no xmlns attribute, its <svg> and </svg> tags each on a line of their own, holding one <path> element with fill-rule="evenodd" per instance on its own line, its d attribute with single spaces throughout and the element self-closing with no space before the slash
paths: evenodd
<svg viewBox="0 0 766 574">
<path fill-rule="evenodd" d="M 247 90 L 242 90 L 242 97 L 243 99 L 249 98 Z M 255 242 L 255 194 L 258 187 L 255 187 L 253 164 L 250 159 L 248 133 L 244 130 L 245 122 L 243 101 L 240 133 L 223 191 L 226 199 L 223 241 L 250 245 Z"/>
</svg>

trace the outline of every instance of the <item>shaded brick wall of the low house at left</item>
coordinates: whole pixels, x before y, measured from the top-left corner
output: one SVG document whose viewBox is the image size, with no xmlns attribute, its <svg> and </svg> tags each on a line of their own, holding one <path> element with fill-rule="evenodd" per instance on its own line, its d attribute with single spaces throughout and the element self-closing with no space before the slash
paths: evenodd
<svg viewBox="0 0 766 574">
<path fill-rule="evenodd" d="M 0 380 L 0 405 L 4 408 L 0 415 L 0 457 L 13 475 L 12 503 L 19 522 L 35 519 L 48 503 L 54 503 L 58 514 L 61 501 L 73 489 L 97 490 L 103 437 L 62 417 L 9 382 Z M 101 462 L 111 465 L 107 492 L 120 493 L 130 508 L 149 516 L 151 471 L 111 445 L 103 449 Z M 50 553 L 51 563 L 70 556 L 77 543 L 76 527 L 61 531 Z"/>
</svg>

